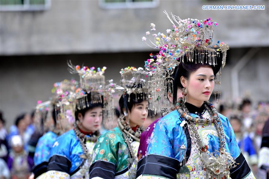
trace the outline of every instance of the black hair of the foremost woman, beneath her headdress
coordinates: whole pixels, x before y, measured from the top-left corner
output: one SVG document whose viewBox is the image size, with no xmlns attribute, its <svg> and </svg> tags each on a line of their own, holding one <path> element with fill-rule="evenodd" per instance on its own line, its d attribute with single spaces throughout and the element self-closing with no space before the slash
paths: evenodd
<svg viewBox="0 0 269 179">
<path fill-rule="evenodd" d="M 210 65 L 208 63 L 208 60 L 206 60 L 205 58 L 206 56 L 204 56 L 204 63 L 195 63 L 195 62 L 190 62 L 187 60 L 187 55 L 185 54 L 183 56 L 183 61 L 184 63 L 181 61 L 180 64 L 178 65 L 178 69 L 175 73 L 175 78 L 174 78 L 174 85 L 173 85 L 173 104 L 176 103 L 177 101 L 177 89 L 178 88 L 183 88 L 180 78 L 181 76 L 183 76 L 186 79 L 189 79 L 189 76 L 192 72 L 195 72 L 196 70 L 198 70 L 200 67 L 204 67 L 204 66 L 209 66 L 212 68 L 213 73 L 214 73 L 214 79 L 216 79 L 216 74 L 218 73 L 219 69 L 221 68 L 221 58 L 216 57 L 217 59 L 217 65 Z M 196 60 L 199 59 L 198 54 L 194 55 L 194 57 Z"/>
</svg>

